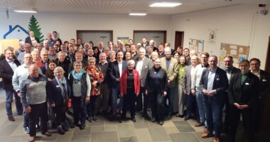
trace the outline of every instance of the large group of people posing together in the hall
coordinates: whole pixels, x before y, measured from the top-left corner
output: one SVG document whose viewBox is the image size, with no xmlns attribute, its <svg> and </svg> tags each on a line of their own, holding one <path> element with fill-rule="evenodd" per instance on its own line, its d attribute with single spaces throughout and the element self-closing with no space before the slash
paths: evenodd
<svg viewBox="0 0 270 142">
<path fill-rule="evenodd" d="M 195 119 L 195 126 L 205 127 L 202 138 L 214 137 L 214 142 L 222 133 L 235 141 L 240 114 L 249 141 L 260 129 L 255 122 L 261 121 L 270 75 L 259 68 L 257 58 L 240 61 L 238 69 L 227 55 L 225 68 L 220 68 L 216 55 L 173 50 L 170 43 L 156 47 L 147 38 L 137 44 L 130 39 L 95 46 L 80 38 L 62 42 L 56 31 L 39 43 L 29 33 L 18 50 L 6 48 L 0 61 L 6 114 L 15 121 L 14 96 L 29 141 L 35 141 L 38 130 L 52 135 L 48 121 L 65 134 L 70 128 L 85 129 L 86 121 L 98 121 L 98 115 L 122 123 L 128 110 L 134 122 L 136 114 L 160 125 L 173 115 Z"/>
</svg>

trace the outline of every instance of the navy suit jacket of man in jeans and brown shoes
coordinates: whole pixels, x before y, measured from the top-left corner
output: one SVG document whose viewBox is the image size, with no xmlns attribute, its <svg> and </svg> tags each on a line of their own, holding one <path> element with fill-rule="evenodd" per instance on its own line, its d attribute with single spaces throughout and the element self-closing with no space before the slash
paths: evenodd
<svg viewBox="0 0 270 142">
<path fill-rule="evenodd" d="M 202 89 L 207 90 L 207 82 L 208 82 L 208 74 L 210 72 L 210 69 L 207 68 L 202 71 L 202 77 L 200 79 L 200 86 Z M 220 67 L 217 67 L 217 70 L 215 72 L 215 78 L 213 82 L 213 87 L 212 90 L 216 90 L 216 94 L 214 97 L 218 97 L 219 99 L 223 99 L 225 90 L 228 89 L 229 83 L 228 83 L 228 78 L 226 75 L 226 72 Z"/>
</svg>

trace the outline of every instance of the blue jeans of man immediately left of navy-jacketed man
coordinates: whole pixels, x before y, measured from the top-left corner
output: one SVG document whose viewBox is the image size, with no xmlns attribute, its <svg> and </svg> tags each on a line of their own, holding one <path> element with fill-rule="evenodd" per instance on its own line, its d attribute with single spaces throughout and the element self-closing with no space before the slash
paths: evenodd
<svg viewBox="0 0 270 142">
<path fill-rule="evenodd" d="M 198 104 L 198 111 L 200 114 L 200 122 L 204 123 L 205 126 L 207 126 L 207 121 L 206 121 L 206 117 L 205 117 L 205 107 L 204 107 L 204 103 L 203 103 L 203 94 L 201 91 L 196 90 L 196 102 Z"/>
</svg>

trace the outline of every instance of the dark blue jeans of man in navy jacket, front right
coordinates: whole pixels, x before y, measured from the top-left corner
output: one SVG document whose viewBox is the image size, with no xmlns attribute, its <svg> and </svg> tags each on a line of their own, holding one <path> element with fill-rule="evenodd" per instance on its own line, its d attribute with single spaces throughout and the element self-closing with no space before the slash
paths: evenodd
<svg viewBox="0 0 270 142">
<path fill-rule="evenodd" d="M 222 94 L 215 94 L 222 95 Z M 204 96 L 203 103 L 205 104 L 205 114 L 207 121 L 207 130 L 212 133 L 215 131 L 215 136 L 220 137 L 221 119 L 220 113 L 222 111 L 222 100 L 217 96 Z"/>
</svg>

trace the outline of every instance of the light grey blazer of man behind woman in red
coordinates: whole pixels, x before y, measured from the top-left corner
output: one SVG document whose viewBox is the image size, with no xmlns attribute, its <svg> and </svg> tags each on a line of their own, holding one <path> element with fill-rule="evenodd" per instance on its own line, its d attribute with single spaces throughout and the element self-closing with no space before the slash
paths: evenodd
<svg viewBox="0 0 270 142">
<path fill-rule="evenodd" d="M 136 58 L 135 60 L 135 66 L 137 65 L 139 61 L 139 58 Z M 140 75 L 140 81 L 141 81 L 141 87 L 145 87 L 146 84 L 146 75 L 148 73 L 148 70 L 150 70 L 153 67 L 153 62 L 152 60 L 148 59 L 148 58 L 144 58 L 144 62 L 143 65 L 141 67 L 141 75 Z M 136 69 L 136 67 L 135 67 Z"/>
</svg>

